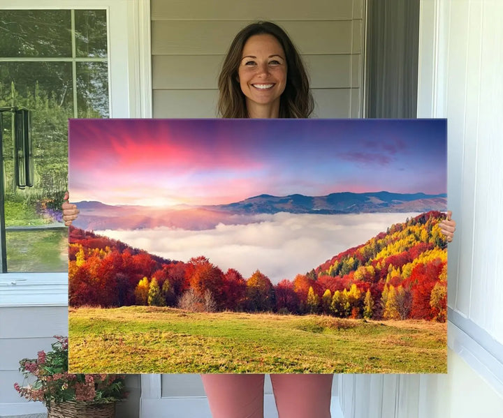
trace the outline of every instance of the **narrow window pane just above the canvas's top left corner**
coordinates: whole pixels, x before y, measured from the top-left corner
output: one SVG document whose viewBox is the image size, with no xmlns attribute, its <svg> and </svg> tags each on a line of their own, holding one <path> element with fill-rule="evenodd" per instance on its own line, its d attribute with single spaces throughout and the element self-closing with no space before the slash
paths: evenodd
<svg viewBox="0 0 503 418">
<path fill-rule="evenodd" d="M 108 117 L 108 64 L 77 63 L 78 117 Z"/>
</svg>

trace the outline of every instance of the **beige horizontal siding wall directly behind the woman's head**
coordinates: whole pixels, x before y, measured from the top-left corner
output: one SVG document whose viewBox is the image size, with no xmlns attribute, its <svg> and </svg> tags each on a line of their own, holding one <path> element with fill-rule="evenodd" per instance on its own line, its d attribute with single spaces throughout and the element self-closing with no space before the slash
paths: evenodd
<svg viewBox="0 0 503 418">
<path fill-rule="evenodd" d="M 256 20 L 277 22 L 296 43 L 316 117 L 361 116 L 363 0 L 152 0 L 154 117 L 216 117 L 224 55 Z"/>
</svg>

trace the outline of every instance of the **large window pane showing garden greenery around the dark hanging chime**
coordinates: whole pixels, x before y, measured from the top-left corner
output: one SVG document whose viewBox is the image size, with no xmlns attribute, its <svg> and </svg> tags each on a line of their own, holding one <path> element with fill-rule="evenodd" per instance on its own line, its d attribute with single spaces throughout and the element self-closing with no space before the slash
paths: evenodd
<svg viewBox="0 0 503 418">
<path fill-rule="evenodd" d="M 52 223 L 52 210 L 61 207 L 68 173 L 68 118 L 73 115 L 71 63 L 3 63 L 0 106 L 13 104 L 31 110 L 34 187 L 15 185 L 12 114 L 3 113 L 3 170 L 6 225 Z"/>
</svg>

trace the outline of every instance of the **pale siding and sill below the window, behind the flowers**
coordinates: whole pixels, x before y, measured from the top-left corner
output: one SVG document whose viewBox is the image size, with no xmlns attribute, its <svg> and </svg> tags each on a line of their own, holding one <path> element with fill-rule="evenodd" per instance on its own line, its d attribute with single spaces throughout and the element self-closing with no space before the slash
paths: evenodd
<svg viewBox="0 0 503 418">
<path fill-rule="evenodd" d="M 20 398 L 13 385 L 23 382 L 20 359 L 50 350 L 54 335 L 68 335 L 68 287 L 55 276 L 66 274 L 0 276 L 0 417 L 45 413 L 41 403 Z"/>
</svg>

